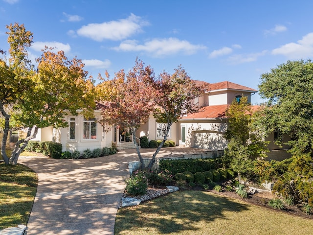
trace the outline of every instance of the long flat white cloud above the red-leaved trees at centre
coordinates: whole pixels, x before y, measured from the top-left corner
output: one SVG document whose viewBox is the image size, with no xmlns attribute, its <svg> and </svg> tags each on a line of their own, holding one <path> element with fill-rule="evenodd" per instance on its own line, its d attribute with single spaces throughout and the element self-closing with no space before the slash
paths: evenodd
<svg viewBox="0 0 313 235">
<path fill-rule="evenodd" d="M 163 57 L 177 53 L 194 54 L 200 49 L 206 49 L 201 45 L 192 45 L 188 41 L 177 38 L 154 39 L 144 44 L 137 44 L 137 41 L 127 40 L 122 42 L 119 47 L 113 47 L 117 51 L 143 51 L 153 57 Z"/>
</svg>

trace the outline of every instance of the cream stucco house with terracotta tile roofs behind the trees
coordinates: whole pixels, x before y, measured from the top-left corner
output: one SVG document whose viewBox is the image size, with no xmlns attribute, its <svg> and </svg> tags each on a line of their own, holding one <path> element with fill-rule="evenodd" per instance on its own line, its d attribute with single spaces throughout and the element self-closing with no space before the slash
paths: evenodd
<svg viewBox="0 0 313 235">
<path fill-rule="evenodd" d="M 227 129 L 227 118 L 225 110 L 233 99 L 247 96 L 251 102 L 251 95 L 257 93 L 255 89 L 224 81 L 219 83 L 207 83 L 195 81 L 205 88 L 206 93 L 197 97 L 193 102 L 203 106 L 200 112 L 188 114 L 181 117 L 178 123 L 173 123 L 167 139 L 175 141 L 176 144 L 186 147 L 198 147 L 206 149 L 221 150 L 226 148 L 227 142 L 224 133 Z M 102 126 L 97 120 L 101 119 L 101 109 L 98 104 L 94 111 L 94 118 L 86 119 L 78 111 L 78 116 L 66 116 L 68 127 L 54 129 L 47 127 L 40 129 L 36 136 L 37 141 L 55 141 L 62 143 L 63 151 L 84 151 L 89 148 L 110 147 L 116 143 L 118 148 L 132 148 L 131 142 L 124 139 L 124 130 L 116 125 L 112 127 Z M 153 115 L 136 132 L 136 138 L 147 136 L 151 140 L 163 140 L 165 125 L 157 123 Z M 107 131 L 106 131 L 107 130 Z M 109 131 L 108 131 L 109 130 Z M 280 151 L 282 148 L 275 145 L 274 139 L 277 133 L 267 138 L 270 141 L 271 150 Z M 285 146 L 287 148 L 287 146 Z M 284 149 L 284 148 L 283 148 Z M 275 153 L 271 153 L 275 155 Z"/>
</svg>

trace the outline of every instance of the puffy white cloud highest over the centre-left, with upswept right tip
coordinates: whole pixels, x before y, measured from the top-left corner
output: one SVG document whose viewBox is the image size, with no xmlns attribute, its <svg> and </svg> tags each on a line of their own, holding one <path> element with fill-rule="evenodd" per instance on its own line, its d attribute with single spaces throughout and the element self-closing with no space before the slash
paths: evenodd
<svg viewBox="0 0 313 235">
<path fill-rule="evenodd" d="M 131 14 L 127 19 L 84 25 L 77 30 L 77 34 L 98 42 L 105 39 L 117 41 L 141 32 L 142 26 L 147 24 L 141 17 Z"/>
</svg>

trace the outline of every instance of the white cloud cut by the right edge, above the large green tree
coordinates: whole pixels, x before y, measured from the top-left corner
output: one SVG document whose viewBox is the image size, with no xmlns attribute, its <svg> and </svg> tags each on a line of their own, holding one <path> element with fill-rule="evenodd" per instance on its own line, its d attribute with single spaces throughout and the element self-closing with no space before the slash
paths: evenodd
<svg viewBox="0 0 313 235">
<path fill-rule="evenodd" d="M 297 43 L 287 43 L 272 50 L 273 55 L 284 55 L 289 59 L 303 59 L 313 56 L 313 33 L 303 36 Z"/>
</svg>

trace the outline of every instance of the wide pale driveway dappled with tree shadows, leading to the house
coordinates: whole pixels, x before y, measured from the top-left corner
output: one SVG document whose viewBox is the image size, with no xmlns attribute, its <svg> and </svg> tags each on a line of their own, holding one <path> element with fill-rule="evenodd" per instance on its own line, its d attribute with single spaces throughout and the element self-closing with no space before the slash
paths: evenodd
<svg viewBox="0 0 313 235">
<path fill-rule="evenodd" d="M 157 157 L 200 152 L 164 148 Z M 143 157 L 154 151 L 141 149 Z M 20 164 L 39 177 L 27 235 L 113 235 L 117 209 L 129 177 L 128 162 L 138 160 L 135 149 L 93 159 L 23 157 Z"/>
</svg>

